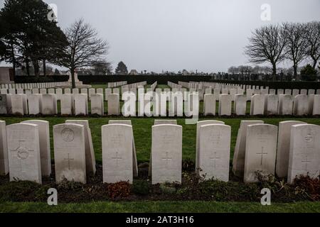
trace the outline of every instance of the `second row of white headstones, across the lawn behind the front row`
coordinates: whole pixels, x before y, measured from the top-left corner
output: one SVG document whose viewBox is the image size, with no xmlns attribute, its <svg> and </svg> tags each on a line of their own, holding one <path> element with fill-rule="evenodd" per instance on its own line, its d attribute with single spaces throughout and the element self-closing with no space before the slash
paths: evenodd
<svg viewBox="0 0 320 227">
<path fill-rule="evenodd" d="M 193 101 L 195 94 L 186 92 L 154 93 L 144 94 L 138 91 L 138 98 L 133 92 L 122 95 L 124 109 L 128 109 L 129 115 L 137 116 L 136 102 L 138 101 L 138 116 L 167 116 L 167 103 L 169 102 L 169 116 L 189 116 L 189 107 L 193 109 L 193 116 L 198 116 L 198 107 L 192 108 L 192 104 L 199 105 Z M 103 94 L 91 94 L 91 114 L 105 115 L 105 102 Z M 119 94 L 107 94 L 107 115 L 119 116 L 120 96 Z M 142 105 L 142 99 L 144 105 Z M 218 105 L 219 116 L 230 116 L 232 113 L 237 116 L 245 116 L 247 111 L 247 100 L 245 95 L 236 95 L 233 102 L 230 94 L 220 94 Z M 183 108 L 183 102 L 185 103 Z M 161 104 L 163 104 L 161 106 Z M 197 105 L 198 104 L 198 105 Z M 60 113 L 61 115 L 88 115 L 87 94 L 61 94 Z M 151 111 L 152 109 L 152 111 Z M 232 111 L 233 110 L 233 111 Z M 0 114 L 14 115 L 55 115 L 58 114 L 57 96 L 55 94 L 1 94 Z M 122 113 L 123 114 L 123 113 Z M 216 99 L 213 94 L 206 94 L 203 101 L 203 114 L 215 116 Z M 262 95 L 252 96 L 250 104 L 250 115 L 290 115 L 306 116 L 320 115 L 320 95 L 299 94 L 294 98 L 291 95 Z"/>
</svg>

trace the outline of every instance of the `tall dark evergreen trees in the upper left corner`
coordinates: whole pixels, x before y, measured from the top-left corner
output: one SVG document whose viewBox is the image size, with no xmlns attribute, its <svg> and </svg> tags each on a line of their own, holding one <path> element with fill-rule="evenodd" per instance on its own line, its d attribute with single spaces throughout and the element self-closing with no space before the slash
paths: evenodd
<svg viewBox="0 0 320 227">
<path fill-rule="evenodd" d="M 48 4 L 40 0 L 6 0 L 0 11 L 0 40 L 6 46 L 2 57 L 14 69 L 24 63 L 27 74 L 32 62 L 36 75 L 39 62 L 46 69 L 46 61 L 55 63 L 68 44 L 56 21 L 48 19 Z"/>
</svg>

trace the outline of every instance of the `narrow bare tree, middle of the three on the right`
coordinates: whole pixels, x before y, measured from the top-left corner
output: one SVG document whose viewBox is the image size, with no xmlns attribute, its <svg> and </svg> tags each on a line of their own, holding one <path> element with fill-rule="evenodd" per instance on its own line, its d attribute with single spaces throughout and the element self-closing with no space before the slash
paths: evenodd
<svg viewBox="0 0 320 227">
<path fill-rule="evenodd" d="M 298 65 L 306 58 L 307 41 L 302 23 L 283 23 L 286 38 L 286 56 L 293 62 L 294 77 L 297 79 Z"/>
</svg>

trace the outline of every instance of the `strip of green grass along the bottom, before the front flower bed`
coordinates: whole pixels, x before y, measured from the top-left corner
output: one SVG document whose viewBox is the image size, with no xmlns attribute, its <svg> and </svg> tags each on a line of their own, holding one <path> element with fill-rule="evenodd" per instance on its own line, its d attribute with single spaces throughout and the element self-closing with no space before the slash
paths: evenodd
<svg viewBox="0 0 320 227">
<path fill-rule="evenodd" d="M 260 203 L 215 201 L 139 201 L 91 202 L 88 204 L 3 203 L 1 212 L 89 212 L 89 213 L 320 213 L 320 202 L 278 203 L 262 206 Z"/>
</svg>

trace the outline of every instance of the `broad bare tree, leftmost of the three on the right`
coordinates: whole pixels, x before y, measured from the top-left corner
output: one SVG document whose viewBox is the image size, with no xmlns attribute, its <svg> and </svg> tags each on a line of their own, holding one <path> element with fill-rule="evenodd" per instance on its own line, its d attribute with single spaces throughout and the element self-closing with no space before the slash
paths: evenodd
<svg viewBox="0 0 320 227">
<path fill-rule="evenodd" d="M 245 55 L 250 62 L 261 64 L 270 62 L 272 74 L 277 74 L 277 63 L 284 60 L 284 35 L 279 26 L 263 26 L 252 32 L 250 44 L 245 47 Z"/>
</svg>

